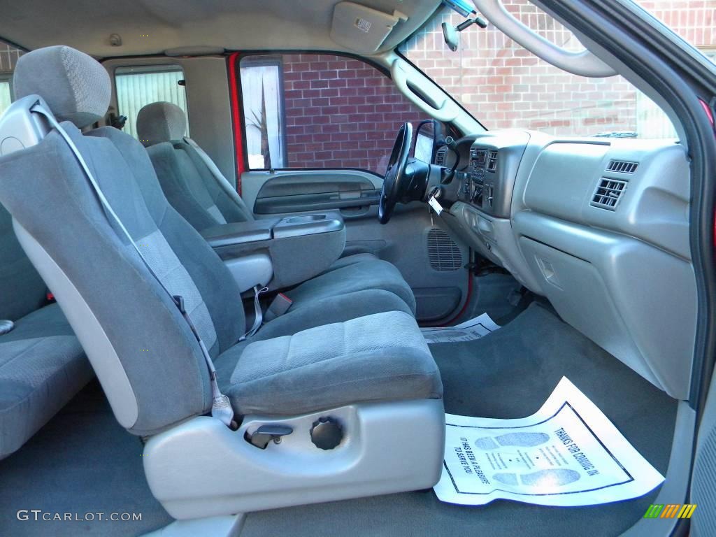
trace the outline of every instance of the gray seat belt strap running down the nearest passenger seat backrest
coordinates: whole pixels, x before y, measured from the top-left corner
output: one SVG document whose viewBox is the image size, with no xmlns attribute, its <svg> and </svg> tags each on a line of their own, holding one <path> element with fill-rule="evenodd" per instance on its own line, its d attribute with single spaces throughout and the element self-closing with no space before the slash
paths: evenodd
<svg viewBox="0 0 716 537">
<path fill-rule="evenodd" d="M 89 166 L 87 166 L 87 163 L 85 162 L 84 158 L 82 157 L 82 153 L 79 153 L 79 150 L 77 149 L 77 146 L 74 145 L 74 142 L 72 141 L 72 138 L 69 137 L 67 134 L 67 131 L 62 128 L 62 125 L 59 125 L 59 122 L 54 118 L 54 116 L 47 112 L 47 110 L 44 109 L 41 105 L 36 104 L 31 109 L 31 112 L 37 112 L 39 115 L 42 115 L 47 121 L 49 122 L 52 127 L 54 127 L 57 132 L 59 132 L 59 135 L 62 136 L 62 139 L 67 143 L 69 146 L 69 149 L 72 150 L 72 153 L 74 154 L 74 158 L 77 159 L 77 162 L 79 163 L 80 167 L 84 171 L 84 175 L 89 180 L 89 184 L 92 185 L 92 189 L 95 190 L 95 194 L 97 195 L 97 198 L 100 200 L 100 204 L 102 205 L 102 208 L 105 211 L 105 214 L 108 218 L 112 218 L 112 220 L 115 222 L 118 228 L 120 228 L 120 231 L 122 231 L 122 234 L 127 238 L 128 241 L 130 241 L 130 244 L 137 252 L 137 255 L 142 260 L 142 263 L 146 266 L 147 270 L 149 271 L 149 274 L 153 276 L 153 278 L 157 281 L 159 286 L 164 289 L 166 294 L 170 297 L 170 299 L 173 301 L 173 303 L 177 306 L 177 308 L 180 311 L 180 314 L 183 316 L 187 324 L 189 325 L 189 329 L 191 330 L 191 333 L 194 334 L 194 337 L 196 338 L 196 341 L 199 344 L 199 348 L 201 349 L 201 354 L 203 354 L 204 360 L 206 362 L 206 365 L 209 369 L 209 379 L 211 382 L 211 396 L 212 396 L 212 403 L 211 403 L 211 415 L 213 417 L 218 418 L 223 423 L 225 423 L 227 426 L 231 425 L 231 421 L 233 420 L 233 410 L 231 408 L 231 402 L 229 402 L 228 397 L 226 395 L 223 395 L 221 393 L 221 390 L 219 389 L 218 383 L 216 382 L 216 368 L 214 367 L 213 361 L 211 360 L 211 355 L 208 352 L 208 349 L 206 349 L 206 345 L 202 341 L 201 337 L 199 336 L 199 333 L 196 330 L 196 327 L 194 326 L 194 323 L 191 321 L 190 316 L 186 312 L 184 308 L 184 299 L 181 296 L 176 296 L 171 294 L 169 289 L 166 288 L 166 286 L 162 283 L 162 281 L 159 279 L 157 274 L 155 274 L 155 271 L 153 271 L 150 264 L 147 262 L 147 259 L 142 254 L 142 251 L 135 243 L 134 239 L 130 235 L 130 232 L 127 231 L 127 228 L 125 228 L 125 225 L 120 220 L 120 217 L 117 216 L 117 213 L 112 209 L 112 205 L 110 205 L 109 200 L 105 198 L 105 194 L 102 192 L 102 188 L 100 188 L 100 185 L 97 183 L 97 180 L 95 180 L 95 176 L 92 175 L 92 172 L 89 170 Z"/>
</svg>

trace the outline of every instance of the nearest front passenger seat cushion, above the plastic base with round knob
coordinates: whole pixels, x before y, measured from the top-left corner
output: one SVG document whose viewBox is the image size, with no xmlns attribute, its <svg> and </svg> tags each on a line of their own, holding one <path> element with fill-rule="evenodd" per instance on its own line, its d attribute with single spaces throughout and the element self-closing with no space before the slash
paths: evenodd
<svg viewBox="0 0 716 537">
<path fill-rule="evenodd" d="M 400 334 L 400 337 L 395 337 Z M 440 372 L 415 319 L 402 311 L 249 343 L 220 383 L 241 415 L 297 415 L 370 401 L 442 397 Z"/>
</svg>

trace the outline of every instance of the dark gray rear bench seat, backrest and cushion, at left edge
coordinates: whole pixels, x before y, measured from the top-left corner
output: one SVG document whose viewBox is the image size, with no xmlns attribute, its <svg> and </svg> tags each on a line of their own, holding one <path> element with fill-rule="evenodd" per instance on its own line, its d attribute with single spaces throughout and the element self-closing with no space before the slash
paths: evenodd
<svg viewBox="0 0 716 537">
<path fill-rule="evenodd" d="M 57 304 L 15 238 L 0 205 L 0 459 L 18 450 L 92 378 Z"/>
</svg>

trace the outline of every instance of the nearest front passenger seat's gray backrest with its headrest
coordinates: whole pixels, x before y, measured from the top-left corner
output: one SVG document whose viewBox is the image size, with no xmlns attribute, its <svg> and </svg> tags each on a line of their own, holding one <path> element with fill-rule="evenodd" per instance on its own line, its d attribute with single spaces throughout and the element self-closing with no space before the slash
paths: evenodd
<svg viewBox="0 0 716 537">
<path fill-rule="evenodd" d="M 58 120 L 71 120 L 62 129 L 153 273 L 185 299 L 210 354 L 235 343 L 245 327 L 238 288 L 169 205 L 142 145 L 112 127 L 89 135 L 79 130 L 107 111 L 105 69 L 69 47 L 47 47 L 25 54 L 14 76 L 19 95 L 39 95 Z M 0 203 L 77 334 L 117 420 L 149 435 L 207 412 L 208 370 L 188 324 L 117 233 L 57 130 L 0 158 Z"/>
</svg>

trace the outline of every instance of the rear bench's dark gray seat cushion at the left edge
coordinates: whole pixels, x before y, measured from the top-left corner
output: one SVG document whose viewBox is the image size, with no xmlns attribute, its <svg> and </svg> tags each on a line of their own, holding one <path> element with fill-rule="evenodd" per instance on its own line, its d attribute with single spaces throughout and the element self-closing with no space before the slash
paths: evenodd
<svg viewBox="0 0 716 537">
<path fill-rule="evenodd" d="M 34 435 L 92 378 L 92 367 L 57 304 L 0 336 L 0 458 Z"/>
</svg>

